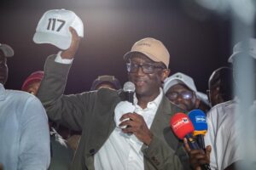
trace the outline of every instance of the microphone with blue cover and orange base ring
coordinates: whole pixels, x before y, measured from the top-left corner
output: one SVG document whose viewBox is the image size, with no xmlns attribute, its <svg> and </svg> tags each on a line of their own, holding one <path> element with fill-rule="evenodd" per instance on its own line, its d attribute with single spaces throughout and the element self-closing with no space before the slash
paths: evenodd
<svg viewBox="0 0 256 170">
<path fill-rule="evenodd" d="M 189 112 L 189 119 L 195 127 L 193 135 L 196 137 L 197 142 L 202 150 L 206 149 L 204 135 L 207 133 L 207 117 L 206 114 L 199 110 L 193 110 Z"/>
</svg>

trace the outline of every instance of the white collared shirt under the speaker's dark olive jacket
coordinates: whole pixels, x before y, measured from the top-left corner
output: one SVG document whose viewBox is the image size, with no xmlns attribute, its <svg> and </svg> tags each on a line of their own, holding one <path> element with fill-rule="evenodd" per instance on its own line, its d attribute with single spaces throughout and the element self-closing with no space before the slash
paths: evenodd
<svg viewBox="0 0 256 170">
<path fill-rule="evenodd" d="M 152 102 L 148 102 L 147 108 L 142 109 L 137 105 L 135 98 L 134 112 L 143 116 L 148 128 L 154 120 L 155 113 L 163 97 L 162 89 L 160 94 Z M 127 107 L 125 107 L 127 105 Z M 121 116 L 127 112 L 133 112 L 129 102 L 120 102 L 115 108 L 115 115 Z M 125 109 L 129 108 L 131 109 Z M 115 120 L 119 120 L 116 118 Z M 116 122 L 118 125 L 119 122 Z M 120 127 L 115 127 L 106 143 L 96 153 L 94 165 L 96 170 L 143 170 L 143 152 L 141 147 L 143 142 L 137 139 L 135 135 L 128 135 L 121 131 Z"/>
</svg>

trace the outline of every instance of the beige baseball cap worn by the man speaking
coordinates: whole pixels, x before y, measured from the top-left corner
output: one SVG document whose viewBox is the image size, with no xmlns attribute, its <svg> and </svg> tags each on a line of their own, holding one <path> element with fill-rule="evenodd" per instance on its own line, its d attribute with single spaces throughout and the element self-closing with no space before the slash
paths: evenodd
<svg viewBox="0 0 256 170">
<path fill-rule="evenodd" d="M 168 68 L 170 61 L 170 54 L 166 46 L 153 37 L 145 37 L 135 42 L 131 48 L 131 51 L 126 53 L 124 59 L 128 59 L 133 53 L 142 53 L 148 56 L 149 59 L 155 62 L 163 62 Z"/>
</svg>

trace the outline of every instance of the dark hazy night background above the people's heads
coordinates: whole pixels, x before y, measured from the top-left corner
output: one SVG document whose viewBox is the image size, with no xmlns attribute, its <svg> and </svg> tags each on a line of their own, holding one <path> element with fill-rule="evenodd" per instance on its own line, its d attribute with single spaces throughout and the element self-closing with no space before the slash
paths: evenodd
<svg viewBox="0 0 256 170">
<path fill-rule="evenodd" d="M 44 69 L 44 60 L 59 49 L 32 42 L 38 20 L 49 9 L 66 8 L 84 22 L 84 38 L 70 71 L 66 94 L 89 90 L 103 74 L 127 81 L 123 55 L 137 40 L 154 37 L 168 48 L 172 74 L 193 77 L 205 92 L 207 80 L 219 66 L 229 65 L 230 15 L 207 11 L 182 0 L 1 0 L 0 42 L 15 49 L 8 59 L 6 88 L 20 89 L 32 71 Z"/>
</svg>

